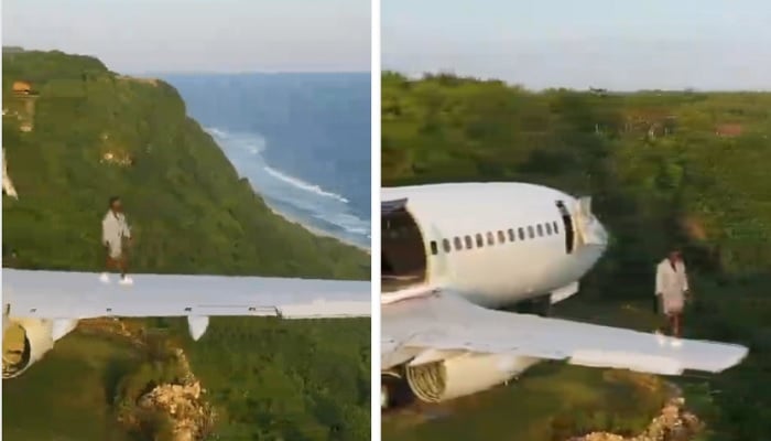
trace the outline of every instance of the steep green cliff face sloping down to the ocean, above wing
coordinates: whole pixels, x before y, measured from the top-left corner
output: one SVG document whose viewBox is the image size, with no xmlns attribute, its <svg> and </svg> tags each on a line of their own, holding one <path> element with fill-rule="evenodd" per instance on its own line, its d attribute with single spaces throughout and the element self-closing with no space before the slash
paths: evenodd
<svg viewBox="0 0 771 441">
<path fill-rule="evenodd" d="M 3 110 L 23 195 L 3 204 L 3 252 L 19 266 L 98 268 L 99 219 L 120 195 L 135 271 L 369 277 L 365 252 L 272 214 L 164 82 L 87 56 L 3 53 Z"/>
</svg>

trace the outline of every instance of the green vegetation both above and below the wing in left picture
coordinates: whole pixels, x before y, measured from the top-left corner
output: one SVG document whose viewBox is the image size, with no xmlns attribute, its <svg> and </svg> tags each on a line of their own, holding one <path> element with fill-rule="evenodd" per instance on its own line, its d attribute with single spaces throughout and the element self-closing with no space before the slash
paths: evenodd
<svg viewBox="0 0 771 441">
<path fill-rule="evenodd" d="M 18 80 L 32 93 L 13 93 Z M 133 225 L 133 271 L 369 279 L 366 252 L 271 213 L 170 85 L 88 56 L 4 51 L 2 92 L 19 193 L 3 195 L 4 266 L 100 270 L 100 220 L 118 194 Z M 185 348 L 218 416 L 213 437 L 369 433 L 367 320 L 213 320 L 198 344 L 183 321 L 144 323 Z M 102 334 L 76 331 L 4 383 L 8 439 L 149 439 L 117 421 L 154 385 L 174 381 L 177 366 Z"/>
</svg>

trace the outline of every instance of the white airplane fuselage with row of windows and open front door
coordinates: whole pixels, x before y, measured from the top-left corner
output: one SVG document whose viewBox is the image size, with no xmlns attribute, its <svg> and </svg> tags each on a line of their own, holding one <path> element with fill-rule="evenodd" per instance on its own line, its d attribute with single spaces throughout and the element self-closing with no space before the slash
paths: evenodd
<svg viewBox="0 0 771 441">
<path fill-rule="evenodd" d="M 487 308 L 543 294 L 558 295 L 555 302 L 575 293 L 607 245 L 594 215 L 580 217 L 578 200 L 545 186 L 405 186 L 383 189 L 382 200 L 406 200 L 426 256 L 422 284 Z M 383 301 L 388 297 L 384 292 Z"/>
</svg>

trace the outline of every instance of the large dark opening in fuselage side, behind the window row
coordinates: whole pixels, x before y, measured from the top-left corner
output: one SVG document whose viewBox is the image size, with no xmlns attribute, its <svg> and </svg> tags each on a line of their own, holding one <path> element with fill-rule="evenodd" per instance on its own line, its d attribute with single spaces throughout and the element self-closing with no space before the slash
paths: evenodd
<svg viewBox="0 0 771 441">
<path fill-rule="evenodd" d="M 406 209 L 406 198 L 383 201 L 380 205 L 383 292 L 419 284 L 426 278 L 423 235 Z"/>
</svg>

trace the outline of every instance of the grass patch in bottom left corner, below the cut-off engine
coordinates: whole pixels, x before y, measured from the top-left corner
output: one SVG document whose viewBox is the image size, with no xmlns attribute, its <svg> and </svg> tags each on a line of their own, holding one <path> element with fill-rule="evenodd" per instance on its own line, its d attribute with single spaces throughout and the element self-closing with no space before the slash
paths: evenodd
<svg viewBox="0 0 771 441">
<path fill-rule="evenodd" d="M 65 336 L 29 372 L 3 380 L 3 440 L 128 441 L 110 405 L 118 378 L 139 357 L 120 338 L 77 330 Z"/>
</svg>

